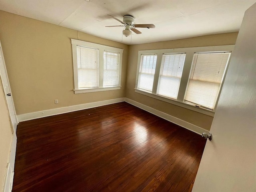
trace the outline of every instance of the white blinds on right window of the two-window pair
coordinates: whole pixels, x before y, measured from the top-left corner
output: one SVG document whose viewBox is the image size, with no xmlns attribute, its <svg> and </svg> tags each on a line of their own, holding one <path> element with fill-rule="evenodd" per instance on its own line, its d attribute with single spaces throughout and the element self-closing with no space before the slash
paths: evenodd
<svg viewBox="0 0 256 192">
<path fill-rule="evenodd" d="M 104 87 L 118 85 L 119 61 L 120 53 L 104 51 Z"/>
</svg>

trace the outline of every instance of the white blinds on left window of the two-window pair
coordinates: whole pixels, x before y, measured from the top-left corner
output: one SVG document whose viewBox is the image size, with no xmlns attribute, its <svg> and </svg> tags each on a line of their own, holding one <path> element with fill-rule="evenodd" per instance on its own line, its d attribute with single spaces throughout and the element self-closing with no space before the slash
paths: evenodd
<svg viewBox="0 0 256 192">
<path fill-rule="evenodd" d="M 78 87 L 98 87 L 98 49 L 77 46 Z"/>
</svg>

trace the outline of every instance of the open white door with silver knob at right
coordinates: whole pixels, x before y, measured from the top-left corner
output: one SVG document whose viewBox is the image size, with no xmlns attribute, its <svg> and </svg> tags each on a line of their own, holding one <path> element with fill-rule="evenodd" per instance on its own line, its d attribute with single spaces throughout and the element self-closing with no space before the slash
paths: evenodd
<svg viewBox="0 0 256 192">
<path fill-rule="evenodd" d="M 256 4 L 238 34 L 192 192 L 256 192 Z"/>
</svg>

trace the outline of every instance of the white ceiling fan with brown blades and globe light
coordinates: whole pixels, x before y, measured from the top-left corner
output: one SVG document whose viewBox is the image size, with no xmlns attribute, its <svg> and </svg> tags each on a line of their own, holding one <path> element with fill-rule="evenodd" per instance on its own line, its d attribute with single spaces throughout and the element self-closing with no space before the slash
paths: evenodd
<svg viewBox="0 0 256 192">
<path fill-rule="evenodd" d="M 120 23 L 124 24 L 124 25 L 115 25 L 115 26 L 106 26 L 106 27 L 125 27 L 125 29 L 123 30 L 123 35 L 128 37 L 132 34 L 131 30 L 136 33 L 136 34 L 141 34 L 141 32 L 139 30 L 137 30 L 136 28 L 155 28 L 156 26 L 154 26 L 153 24 L 134 24 L 134 17 L 131 15 L 125 15 L 123 18 L 123 21 L 119 20 L 118 18 L 115 18 L 112 15 L 108 15 L 110 17 L 112 17 L 113 19 L 119 21 Z"/>
</svg>

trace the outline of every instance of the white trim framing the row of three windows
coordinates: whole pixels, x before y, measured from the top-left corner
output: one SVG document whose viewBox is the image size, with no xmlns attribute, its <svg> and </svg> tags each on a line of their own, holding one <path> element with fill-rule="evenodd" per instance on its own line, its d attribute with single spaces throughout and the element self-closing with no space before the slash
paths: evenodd
<svg viewBox="0 0 256 192">
<path fill-rule="evenodd" d="M 193 61 L 194 53 L 195 52 L 214 52 L 214 51 L 233 51 L 233 50 L 234 50 L 234 45 L 194 47 L 194 48 L 176 48 L 176 49 L 140 50 L 140 51 L 138 51 L 138 64 L 137 64 L 135 92 L 213 117 L 214 113 L 215 113 L 215 108 L 218 104 L 218 99 L 220 97 L 220 93 L 218 95 L 216 105 L 215 105 L 215 108 L 214 108 L 213 111 L 210 110 L 210 109 L 203 108 L 203 107 L 196 107 L 196 105 L 194 105 L 192 103 L 184 102 L 186 87 L 187 87 L 187 83 L 188 83 L 188 80 L 189 80 L 189 75 L 190 75 L 190 70 L 191 70 L 191 67 L 192 67 L 192 61 Z M 181 81 L 180 81 L 180 88 L 179 88 L 178 97 L 177 97 L 176 100 L 175 99 L 170 99 L 170 98 L 167 98 L 167 97 L 163 97 L 161 95 L 156 94 L 157 86 L 158 86 L 159 73 L 160 73 L 160 67 L 161 67 L 161 62 L 162 62 L 162 55 L 164 53 L 186 53 L 186 59 L 185 59 L 185 62 L 184 62 L 182 77 L 181 77 Z M 140 58 L 141 58 L 142 54 L 157 54 L 156 70 L 155 70 L 155 75 L 154 75 L 154 83 L 153 83 L 152 93 L 149 93 L 149 92 L 144 91 L 142 89 L 138 89 L 138 76 L 139 76 L 139 69 L 140 69 Z M 227 65 L 226 69 L 227 68 L 228 68 L 228 65 Z M 225 76 L 226 76 L 226 71 L 224 73 L 223 79 L 225 79 Z M 223 81 L 220 85 L 220 90 L 222 89 L 222 85 L 223 85 Z"/>
</svg>

